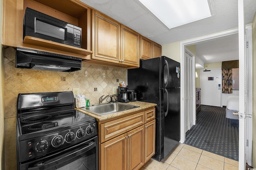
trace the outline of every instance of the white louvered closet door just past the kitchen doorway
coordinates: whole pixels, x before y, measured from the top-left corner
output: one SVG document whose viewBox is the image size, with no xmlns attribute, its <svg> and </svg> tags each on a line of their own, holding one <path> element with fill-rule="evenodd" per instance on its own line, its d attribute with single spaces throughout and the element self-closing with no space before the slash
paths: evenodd
<svg viewBox="0 0 256 170">
<path fill-rule="evenodd" d="M 194 72 L 194 69 L 193 69 L 193 57 L 188 54 L 186 52 L 185 54 L 186 56 L 186 68 L 185 68 L 185 77 L 186 77 L 186 81 L 185 81 L 185 119 L 186 119 L 186 132 L 192 127 L 193 125 L 193 90 L 195 90 L 193 88 L 193 81 L 194 81 L 194 78 L 193 78 L 193 72 Z"/>
</svg>

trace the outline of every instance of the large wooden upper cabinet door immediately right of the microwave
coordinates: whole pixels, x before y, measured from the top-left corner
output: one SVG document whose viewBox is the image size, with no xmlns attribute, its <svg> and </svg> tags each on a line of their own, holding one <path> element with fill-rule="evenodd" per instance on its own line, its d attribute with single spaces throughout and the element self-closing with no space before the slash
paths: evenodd
<svg viewBox="0 0 256 170">
<path fill-rule="evenodd" d="M 92 59 L 119 62 L 120 27 L 117 21 L 93 10 Z"/>
</svg>

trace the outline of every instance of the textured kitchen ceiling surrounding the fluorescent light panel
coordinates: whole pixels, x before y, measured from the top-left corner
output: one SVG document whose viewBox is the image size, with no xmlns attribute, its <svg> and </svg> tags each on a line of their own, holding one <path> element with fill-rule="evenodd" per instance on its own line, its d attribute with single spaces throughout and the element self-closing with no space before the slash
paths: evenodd
<svg viewBox="0 0 256 170">
<path fill-rule="evenodd" d="M 213 0 L 214 16 L 172 29 L 166 29 L 136 0 L 81 1 L 161 45 L 238 27 L 238 0 Z M 252 23 L 255 11 L 256 0 L 244 0 L 246 24 Z"/>
</svg>

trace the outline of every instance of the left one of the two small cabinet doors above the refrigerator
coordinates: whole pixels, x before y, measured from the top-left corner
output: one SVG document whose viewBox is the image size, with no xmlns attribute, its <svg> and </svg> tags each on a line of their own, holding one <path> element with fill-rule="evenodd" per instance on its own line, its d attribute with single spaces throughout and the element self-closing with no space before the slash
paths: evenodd
<svg viewBox="0 0 256 170">
<path fill-rule="evenodd" d="M 140 58 L 151 59 L 152 58 L 152 41 L 140 35 Z"/>
</svg>

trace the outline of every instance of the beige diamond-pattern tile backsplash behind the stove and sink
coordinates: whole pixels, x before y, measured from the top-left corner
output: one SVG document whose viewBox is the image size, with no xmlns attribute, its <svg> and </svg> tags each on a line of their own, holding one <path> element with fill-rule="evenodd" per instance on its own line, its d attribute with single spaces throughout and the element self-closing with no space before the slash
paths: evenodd
<svg viewBox="0 0 256 170">
<path fill-rule="evenodd" d="M 4 49 L 4 115 L 16 116 L 19 93 L 61 92 L 80 88 L 80 94 L 98 103 L 102 95 L 113 94 L 118 81 L 126 82 L 126 69 L 82 63 L 82 70 L 56 72 L 15 68 L 15 49 Z"/>
</svg>

